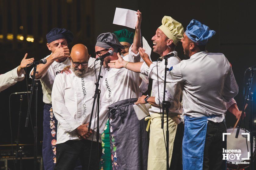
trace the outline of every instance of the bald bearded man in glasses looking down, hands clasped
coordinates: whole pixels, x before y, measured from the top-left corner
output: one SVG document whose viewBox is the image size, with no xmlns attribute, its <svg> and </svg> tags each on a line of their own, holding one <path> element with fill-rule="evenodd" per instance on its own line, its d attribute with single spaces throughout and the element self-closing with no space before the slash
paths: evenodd
<svg viewBox="0 0 256 170">
<path fill-rule="evenodd" d="M 71 73 L 58 74 L 54 80 L 52 107 L 54 116 L 58 120 L 55 170 L 73 169 L 78 158 L 81 160 L 82 169 L 87 169 L 90 151 L 89 169 L 96 170 L 97 159 L 99 160 L 101 156 L 101 143 L 98 146 L 96 145 L 97 118 L 94 125 L 97 102 L 94 107 L 91 131 L 87 131 L 96 87 L 94 69 L 88 67 L 89 58 L 87 47 L 83 44 L 76 44 L 73 46 L 69 56 Z M 104 89 L 102 90 L 104 93 Z M 102 101 L 101 107 L 105 105 L 108 106 L 107 103 Z M 108 114 L 100 114 L 100 133 L 104 131 L 107 118 Z M 97 147 L 99 149 L 99 158 L 97 158 Z"/>
</svg>

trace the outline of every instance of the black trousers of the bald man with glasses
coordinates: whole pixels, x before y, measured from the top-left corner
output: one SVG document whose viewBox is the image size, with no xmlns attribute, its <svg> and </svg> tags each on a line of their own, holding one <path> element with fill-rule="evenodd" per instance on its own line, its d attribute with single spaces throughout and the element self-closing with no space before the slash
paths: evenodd
<svg viewBox="0 0 256 170">
<path fill-rule="evenodd" d="M 99 157 L 97 158 L 96 142 L 90 140 L 69 140 L 61 144 L 57 144 L 56 149 L 56 165 L 55 170 L 74 169 L 78 158 L 81 160 L 82 170 L 87 170 L 89 166 L 89 158 L 91 151 L 90 170 L 97 169 L 97 160 L 100 160 L 102 154 L 102 146 L 99 143 Z"/>
</svg>

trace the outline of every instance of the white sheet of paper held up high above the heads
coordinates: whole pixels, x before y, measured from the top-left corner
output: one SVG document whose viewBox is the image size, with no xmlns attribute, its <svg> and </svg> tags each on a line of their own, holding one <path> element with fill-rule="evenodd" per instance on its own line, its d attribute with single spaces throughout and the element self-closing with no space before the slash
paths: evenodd
<svg viewBox="0 0 256 170">
<path fill-rule="evenodd" d="M 116 8 L 113 24 L 127 26 L 135 29 L 137 22 L 137 11 L 130 9 Z"/>
</svg>

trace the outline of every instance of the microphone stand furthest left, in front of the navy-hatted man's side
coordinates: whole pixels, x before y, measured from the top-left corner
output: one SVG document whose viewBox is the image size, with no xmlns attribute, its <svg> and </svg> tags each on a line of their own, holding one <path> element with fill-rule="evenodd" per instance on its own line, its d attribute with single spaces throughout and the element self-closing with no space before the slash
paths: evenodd
<svg viewBox="0 0 256 170">
<path fill-rule="evenodd" d="M 32 96 L 33 96 L 33 92 L 35 91 L 34 170 L 37 169 L 37 87 L 38 87 L 38 83 L 35 82 L 35 75 L 36 75 L 36 73 L 38 73 L 38 71 L 36 71 L 36 70 L 37 70 L 37 65 L 34 65 L 32 83 L 30 86 L 30 96 L 29 96 L 29 102 L 28 102 L 27 118 L 26 118 L 26 123 L 25 123 L 25 127 L 28 127 L 28 119 L 29 119 L 29 114 L 30 114 Z"/>
</svg>

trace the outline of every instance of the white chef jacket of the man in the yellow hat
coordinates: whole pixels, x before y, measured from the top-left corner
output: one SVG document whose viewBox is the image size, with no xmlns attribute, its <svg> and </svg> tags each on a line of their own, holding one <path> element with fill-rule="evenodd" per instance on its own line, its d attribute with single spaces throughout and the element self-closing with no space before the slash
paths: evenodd
<svg viewBox="0 0 256 170">
<path fill-rule="evenodd" d="M 168 64 L 167 68 L 170 68 L 178 63 L 180 63 L 180 58 L 178 56 L 173 56 L 168 59 Z M 156 65 L 156 62 L 153 62 Z M 165 60 L 158 61 L 158 66 L 161 68 L 165 68 Z M 147 64 L 144 62 L 142 66 L 140 67 L 140 72 L 143 73 L 144 75 L 148 75 L 149 68 Z M 158 75 L 160 75 L 160 70 L 158 69 Z M 159 80 L 159 97 L 158 98 L 158 83 L 157 79 L 153 80 L 152 82 L 152 92 L 151 96 L 155 97 L 155 103 L 160 104 L 162 106 L 162 101 L 163 101 L 163 94 L 164 94 L 164 83 L 162 83 Z M 166 83 L 166 90 L 165 90 L 165 101 L 169 101 L 171 103 L 171 107 L 169 108 L 169 113 L 170 115 L 177 115 L 177 114 L 182 114 L 183 109 L 180 104 L 180 96 L 181 96 L 181 88 L 180 84 L 177 82 L 174 83 Z M 149 114 L 154 114 L 154 113 L 160 113 L 160 108 L 151 105 L 151 108 L 148 110 Z M 162 108 L 161 108 L 162 111 Z M 172 114 L 174 113 L 174 114 Z M 177 122 L 178 124 L 180 121 Z"/>
</svg>

